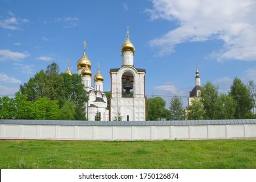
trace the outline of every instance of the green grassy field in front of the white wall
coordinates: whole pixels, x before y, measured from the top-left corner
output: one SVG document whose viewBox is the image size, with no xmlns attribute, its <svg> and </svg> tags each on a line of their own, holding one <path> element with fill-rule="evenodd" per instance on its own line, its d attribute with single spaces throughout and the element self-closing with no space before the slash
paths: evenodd
<svg viewBox="0 0 256 182">
<path fill-rule="evenodd" d="M 0 168 L 256 168 L 256 140 L 1 140 Z"/>
</svg>

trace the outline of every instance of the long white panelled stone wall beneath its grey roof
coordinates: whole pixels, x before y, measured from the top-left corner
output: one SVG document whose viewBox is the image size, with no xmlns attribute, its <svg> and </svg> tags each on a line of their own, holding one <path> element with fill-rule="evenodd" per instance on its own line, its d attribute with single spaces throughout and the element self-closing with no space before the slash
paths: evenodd
<svg viewBox="0 0 256 182">
<path fill-rule="evenodd" d="M 256 124 L 232 125 L 0 124 L 0 139 L 212 140 L 256 138 Z"/>
</svg>

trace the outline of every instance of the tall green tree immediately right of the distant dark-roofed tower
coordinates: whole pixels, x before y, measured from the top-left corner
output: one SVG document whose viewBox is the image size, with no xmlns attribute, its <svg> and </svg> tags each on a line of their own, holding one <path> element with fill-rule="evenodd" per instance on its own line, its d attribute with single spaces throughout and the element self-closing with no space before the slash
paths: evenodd
<svg viewBox="0 0 256 182">
<path fill-rule="evenodd" d="M 214 117 L 216 116 L 215 103 L 218 99 L 218 87 L 207 82 L 201 87 L 201 98 L 205 110 L 205 119 L 214 120 Z"/>
</svg>

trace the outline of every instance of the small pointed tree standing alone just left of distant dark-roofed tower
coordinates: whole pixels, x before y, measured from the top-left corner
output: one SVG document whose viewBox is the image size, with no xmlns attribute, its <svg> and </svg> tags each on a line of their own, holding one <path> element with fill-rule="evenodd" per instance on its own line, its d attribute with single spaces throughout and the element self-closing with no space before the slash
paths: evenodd
<svg viewBox="0 0 256 182">
<path fill-rule="evenodd" d="M 178 96 L 174 96 L 170 102 L 171 120 L 185 120 L 185 111 L 183 109 L 183 103 Z"/>
</svg>

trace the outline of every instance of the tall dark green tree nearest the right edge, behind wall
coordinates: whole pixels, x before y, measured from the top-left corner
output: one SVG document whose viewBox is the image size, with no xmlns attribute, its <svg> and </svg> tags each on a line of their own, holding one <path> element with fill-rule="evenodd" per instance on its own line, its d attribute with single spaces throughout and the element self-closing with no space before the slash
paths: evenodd
<svg viewBox="0 0 256 182">
<path fill-rule="evenodd" d="M 237 77 L 233 80 L 229 95 L 236 101 L 236 119 L 244 119 L 253 108 L 253 99 L 246 85 Z"/>
</svg>

